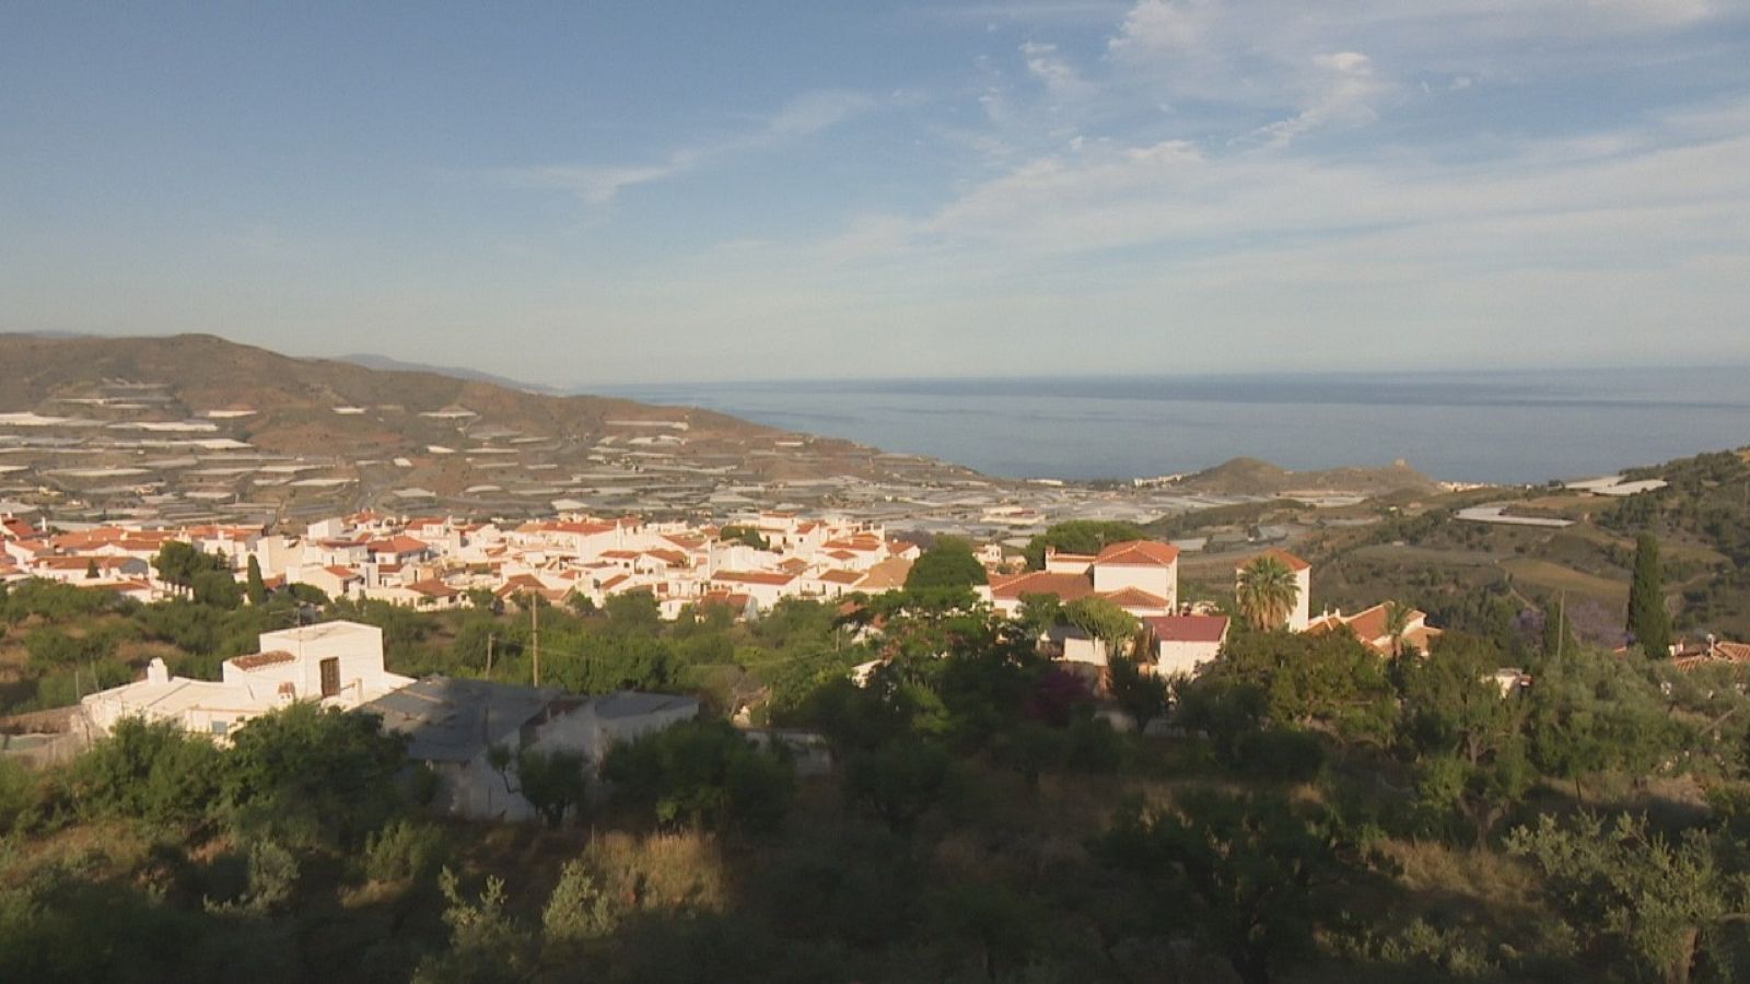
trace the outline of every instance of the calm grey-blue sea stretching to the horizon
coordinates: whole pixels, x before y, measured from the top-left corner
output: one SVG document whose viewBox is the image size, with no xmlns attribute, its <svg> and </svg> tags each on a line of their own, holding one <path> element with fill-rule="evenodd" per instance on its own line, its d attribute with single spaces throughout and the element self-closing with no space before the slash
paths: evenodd
<svg viewBox="0 0 1750 984">
<path fill-rule="evenodd" d="M 1258 457 L 1447 481 L 1592 478 L 1750 445 L 1750 368 L 593 387 L 1008 478 L 1129 480 Z"/>
</svg>

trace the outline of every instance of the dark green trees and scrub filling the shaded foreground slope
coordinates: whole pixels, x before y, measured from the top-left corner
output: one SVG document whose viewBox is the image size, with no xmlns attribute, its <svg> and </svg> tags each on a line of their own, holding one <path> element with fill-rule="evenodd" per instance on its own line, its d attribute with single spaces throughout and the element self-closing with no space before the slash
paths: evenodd
<svg viewBox="0 0 1750 984">
<path fill-rule="evenodd" d="M 663 623 L 635 595 L 548 609 L 548 681 L 707 697 L 705 720 L 620 746 L 598 776 L 551 776 L 548 823 L 429 816 L 429 786 L 388 776 L 396 739 L 308 707 L 257 720 L 231 749 L 128 727 L 63 769 L 0 763 L 0 977 L 1750 968 L 1750 679 L 1736 665 L 1685 674 L 1572 639 L 1516 653 L 1463 632 L 1382 662 L 1346 636 L 1241 629 L 1172 688 L 1174 727 L 1143 735 L 1038 655 L 1036 627 L 943 592 L 872 599 L 880 627 L 864 632 L 807 602 L 746 627 L 710 611 Z M 46 615 L 58 594 L 21 625 L 80 634 L 145 611 Z M 250 609 L 166 611 L 226 627 Z M 494 678 L 532 669 L 514 613 L 332 613 L 383 625 L 394 669 L 481 674 L 488 639 Z M 887 662 L 852 685 L 847 665 L 873 655 Z M 1493 674 L 1508 660 L 1530 690 L 1503 693 Z M 833 772 L 802 779 L 746 744 L 719 720 L 742 697 L 821 732 Z M 609 800 L 586 793 L 604 783 Z"/>
</svg>

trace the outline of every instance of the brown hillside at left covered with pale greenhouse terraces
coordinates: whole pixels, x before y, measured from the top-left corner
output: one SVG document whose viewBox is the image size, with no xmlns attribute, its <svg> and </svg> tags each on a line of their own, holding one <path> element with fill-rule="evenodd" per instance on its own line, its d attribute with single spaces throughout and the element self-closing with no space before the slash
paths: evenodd
<svg viewBox="0 0 1750 984">
<path fill-rule="evenodd" d="M 0 450 L 10 494 L 49 488 L 131 511 L 170 496 L 208 511 L 504 515 L 553 501 L 662 504 L 677 490 L 696 503 L 737 485 L 975 478 L 709 410 L 292 359 L 205 334 L 0 336 Z"/>
</svg>

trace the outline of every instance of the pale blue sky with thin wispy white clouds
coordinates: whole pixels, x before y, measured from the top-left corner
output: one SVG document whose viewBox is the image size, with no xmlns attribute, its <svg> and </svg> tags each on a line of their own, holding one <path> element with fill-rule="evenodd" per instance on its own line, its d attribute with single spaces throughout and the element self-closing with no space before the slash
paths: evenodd
<svg viewBox="0 0 1750 984">
<path fill-rule="evenodd" d="M 0 331 L 579 387 L 1750 364 L 1750 0 L 12 0 Z"/>
</svg>

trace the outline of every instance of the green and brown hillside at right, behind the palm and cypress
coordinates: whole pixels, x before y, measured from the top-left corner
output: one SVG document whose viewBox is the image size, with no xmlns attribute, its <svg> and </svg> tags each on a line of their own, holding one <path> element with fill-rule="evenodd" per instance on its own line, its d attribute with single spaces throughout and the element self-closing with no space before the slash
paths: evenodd
<svg viewBox="0 0 1750 984">
<path fill-rule="evenodd" d="M 1234 562 L 1256 550 L 1262 527 L 1292 531 L 1288 546 L 1312 562 L 1318 608 L 1356 611 L 1381 599 L 1414 604 L 1440 625 L 1503 641 L 1531 641 L 1544 613 L 1564 608 L 1589 641 L 1624 643 L 1629 574 L 1640 532 L 1657 538 L 1666 608 L 1678 636 L 1750 637 L 1750 464 L 1715 452 L 1636 469 L 1664 480 L 1612 499 L 1559 487 L 1393 494 L 1348 508 L 1270 499 L 1171 517 L 1146 529 L 1167 539 L 1228 531 L 1183 560 L 1188 592 L 1223 597 Z M 1494 525 L 1458 518 L 1479 504 L 1508 515 L 1568 520 L 1566 527 Z M 1237 546 L 1237 550 L 1236 550 Z"/>
</svg>

